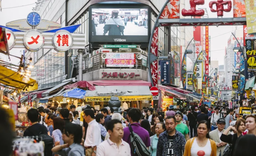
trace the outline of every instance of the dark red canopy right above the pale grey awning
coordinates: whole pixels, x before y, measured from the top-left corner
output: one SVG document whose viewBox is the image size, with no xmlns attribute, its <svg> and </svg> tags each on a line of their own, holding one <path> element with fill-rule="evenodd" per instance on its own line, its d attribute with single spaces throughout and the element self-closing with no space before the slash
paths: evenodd
<svg viewBox="0 0 256 156">
<path fill-rule="evenodd" d="M 88 87 L 90 91 L 94 91 L 95 85 L 97 86 L 148 86 L 151 87 L 151 83 L 143 80 L 97 80 L 97 81 L 79 81 L 71 85 L 66 85 L 66 89 L 75 87 Z"/>
</svg>

